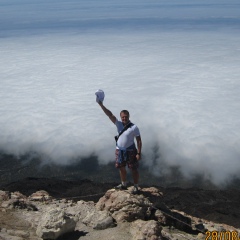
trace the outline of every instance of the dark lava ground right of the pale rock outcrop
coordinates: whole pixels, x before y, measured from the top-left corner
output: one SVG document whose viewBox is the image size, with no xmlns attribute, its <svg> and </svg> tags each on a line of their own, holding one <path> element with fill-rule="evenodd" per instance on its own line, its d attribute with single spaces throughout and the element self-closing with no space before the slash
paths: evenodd
<svg viewBox="0 0 240 240">
<path fill-rule="evenodd" d="M 163 201 L 171 209 L 216 223 L 240 227 L 239 190 L 166 188 L 163 192 Z"/>
</svg>

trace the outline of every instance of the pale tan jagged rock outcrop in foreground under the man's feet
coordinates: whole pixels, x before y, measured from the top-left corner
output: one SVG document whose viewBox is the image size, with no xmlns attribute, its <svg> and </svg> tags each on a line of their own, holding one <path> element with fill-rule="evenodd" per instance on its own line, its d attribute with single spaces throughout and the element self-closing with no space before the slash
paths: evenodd
<svg viewBox="0 0 240 240">
<path fill-rule="evenodd" d="M 46 191 L 29 197 L 0 191 L 1 240 L 205 239 L 205 231 L 234 227 L 169 209 L 157 188 L 139 195 L 108 190 L 98 202 L 54 199 Z"/>
</svg>

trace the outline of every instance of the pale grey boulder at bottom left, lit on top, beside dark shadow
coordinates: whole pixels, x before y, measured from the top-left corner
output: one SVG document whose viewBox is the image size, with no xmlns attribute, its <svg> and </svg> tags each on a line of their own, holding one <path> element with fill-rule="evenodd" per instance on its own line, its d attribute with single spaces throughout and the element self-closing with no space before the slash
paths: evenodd
<svg viewBox="0 0 240 240">
<path fill-rule="evenodd" d="M 66 215 L 62 209 L 47 209 L 43 214 L 36 234 L 42 239 L 57 239 L 64 233 L 73 232 L 76 227 L 76 220 Z"/>
</svg>

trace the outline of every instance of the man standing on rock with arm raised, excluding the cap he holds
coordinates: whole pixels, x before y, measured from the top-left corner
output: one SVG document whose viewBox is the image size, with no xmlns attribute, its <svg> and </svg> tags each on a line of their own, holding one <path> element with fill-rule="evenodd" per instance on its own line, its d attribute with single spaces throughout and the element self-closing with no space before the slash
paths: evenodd
<svg viewBox="0 0 240 240">
<path fill-rule="evenodd" d="M 134 182 L 134 188 L 132 193 L 138 194 L 138 161 L 141 159 L 142 140 L 138 127 L 131 123 L 129 120 L 129 112 L 122 110 L 120 112 L 121 121 L 119 121 L 110 110 L 108 110 L 102 103 L 98 101 L 98 104 L 102 108 L 103 112 L 110 118 L 110 120 L 116 125 L 119 137 L 116 139 L 116 162 L 115 167 L 119 169 L 120 178 L 122 183 L 116 187 L 116 189 L 127 189 L 127 171 L 126 165 L 132 171 L 132 177 Z M 125 128 L 125 129 L 124 129 Z M 124 130 L 122 133 L 121 131 Z M 137 148 L 134 143 L 134 139 L 137 142 Z"/>
</svg>

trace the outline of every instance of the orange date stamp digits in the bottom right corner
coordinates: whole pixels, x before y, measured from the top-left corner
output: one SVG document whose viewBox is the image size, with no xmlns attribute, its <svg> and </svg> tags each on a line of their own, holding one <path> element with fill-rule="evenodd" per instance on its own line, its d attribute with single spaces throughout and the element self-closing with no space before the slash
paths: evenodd
<svg viewBox="0 0 240 240">
<path fill-rule="evenodd" d="M 240 240 L 237 231 L 207 231 L 205 240 Z"/>
</svg>

